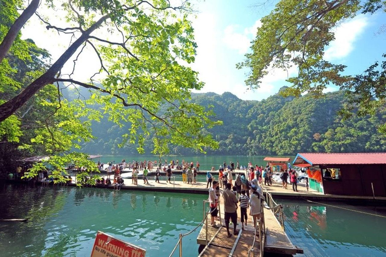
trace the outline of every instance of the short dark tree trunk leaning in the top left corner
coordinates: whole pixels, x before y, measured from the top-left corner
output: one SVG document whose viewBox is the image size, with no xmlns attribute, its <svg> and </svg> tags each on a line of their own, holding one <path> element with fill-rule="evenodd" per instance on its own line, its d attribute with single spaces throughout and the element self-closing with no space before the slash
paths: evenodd
<svg viewBox="0 0 386 257">
<path fill-rule="evenodd" d="M 24 24 L 31 18 L 38 9 L 40 0 L 32 0 L 31 4 L 27 7 L 26 10 L 19 16 L 18 19 L 11 26 L 3 42 L 0 44 L 0 63 L 3 61 L 4 57 L 7 55 L 12 44 L 15 41 L 16 36 L 19 34 L 19 31 L 23 28 Z"/>
</svg>

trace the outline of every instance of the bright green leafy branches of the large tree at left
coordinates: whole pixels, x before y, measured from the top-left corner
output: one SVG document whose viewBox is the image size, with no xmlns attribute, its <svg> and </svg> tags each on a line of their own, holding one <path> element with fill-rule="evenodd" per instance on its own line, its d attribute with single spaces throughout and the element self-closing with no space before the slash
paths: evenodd
<svg viewBox="0 0 386 257">
<path fill-rule="evenodd" d="M 17 10 L 25 4 L 27 8 L 19 15 Z M 82 116 L 98 120 L 101 115 L 117 124 L 130 123 L 122 143 L 138 143 L 140 153 L 151 130 L 154 153 L 167 153 L 169 143 L 199 150 L 217 147 L 210 135 L 200 132 L 220 122 L 209 118 L 212 111 L 188 102 L 190 90 L 202 88 L 203 83 L 198 81 L 197 72 L 183 65 L 195 60 L 197 47 L 187 19 L 192 12 L 187 1 L 172 6 L 167 0 L 33 0 L 29 4 L 8 0 L 1 5 L 0 79 L 3 88 L 15 87 L 13 94 L 2 95 L 0 105 L 0 133 L 5 140 L 12 140 L 12 133 L 1 129 L 20 122 L 23 106 L 43 88 L 55 84 L 56 92 L 52 91 L 50 97 L 56 99 L 46 101 L 46 105 L 53 108 L 47 116 L 56 117 L 58 122 L 47 125 L 44 133 L 37 132 L 33 140 L 43 145 L 51 139 L 50 155 L 69 151 L 70 142 L 90 137 L 87 124 L 79 123 Z M 53 17 L 40 15 L 44 8 L 65 12 L 67 27 L 57 26 Z M 18 71 L 18 67 L 10 66 L 10 58 L 31 60 L 28 44 L 20 39 L 20 29 L 32 15 L 38 16 L 48 30 L 70 34 L 72 40 L 58 60 L 32 76 L 32 81 L 21 83 L 8 79 L 9 74 Z M 61 69 L 69 61 L 73 61 L 74 70 L 82 68 L 76 66 L 76 61 L 85 48 L 98 57 L 100 70 L 84 81 L 74 79 L 74 72 L 63 75 Z M 85 102 L 68 103 L 61 94 L 63 83 L 88 88 L 92 95 Z M 100 104 L 101 112 L 89 112 L 90 104 Z M 167 107 L 161 110 L 161 105 Z M 63 142 L 61 134 L 55 134 L 63 130 L 72 136 L 70 142 Z M 20 137 L 13 135 L 15 141 Z"/>
</svg>

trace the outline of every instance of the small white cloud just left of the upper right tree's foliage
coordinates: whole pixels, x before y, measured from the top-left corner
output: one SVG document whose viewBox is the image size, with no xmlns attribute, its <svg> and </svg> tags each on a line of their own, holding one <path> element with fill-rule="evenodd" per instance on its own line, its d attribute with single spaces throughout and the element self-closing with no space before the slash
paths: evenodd
<svg viewBox="0 0 386 257">
<path fill-rule="evenodd" d="M 229 25 L 224 30 L 223 43 L 230 49 L 238 50 L 239 54 L 245 54 L 251 46 L 257 28 L 260 26 L 260 20 L 257 20 L 251 27 L 244 28 L 244 30 L 240 25 Z"/>
</svg>

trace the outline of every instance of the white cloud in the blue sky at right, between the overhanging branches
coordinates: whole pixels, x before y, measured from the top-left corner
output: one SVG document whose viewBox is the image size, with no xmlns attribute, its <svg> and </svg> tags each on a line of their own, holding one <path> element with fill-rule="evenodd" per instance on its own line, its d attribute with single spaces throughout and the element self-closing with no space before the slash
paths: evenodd
<svg viewBox="0 0 386 257">
<path fill-rule="evenodd" d="M 354 43 L 368 25 L 368 18 L 358 15 L 335 29 L 335 40 L 327 48 L 324 59 L 332 61 L 346 57 L 354 49 Z"/>
</svg>

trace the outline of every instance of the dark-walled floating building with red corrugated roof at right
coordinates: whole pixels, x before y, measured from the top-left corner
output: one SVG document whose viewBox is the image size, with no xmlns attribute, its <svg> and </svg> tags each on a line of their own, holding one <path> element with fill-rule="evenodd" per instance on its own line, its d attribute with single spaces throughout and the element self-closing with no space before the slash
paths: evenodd
<svg viewBox="0 0 386 257">
<path fill-rule="evenodd" d="M 310 187 L 325 194 L 386 196 L 386 153 L 300 153 L 293 164 L 308 166 Z"/>
</svg>

